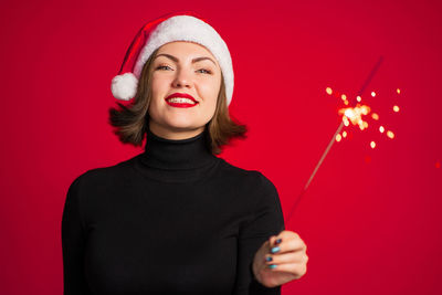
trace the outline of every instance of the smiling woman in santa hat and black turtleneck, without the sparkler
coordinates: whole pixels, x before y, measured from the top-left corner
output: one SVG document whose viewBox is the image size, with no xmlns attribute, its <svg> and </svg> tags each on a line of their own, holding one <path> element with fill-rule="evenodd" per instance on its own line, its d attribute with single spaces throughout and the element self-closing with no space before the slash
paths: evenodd
<svg viewBox="0 0 442 295">
<path fill-rule="evenodd" d="M 194 13 L 193 13 L 194 14 Z M 62 220 L 64 294 L 281 294 L 306 272 L 306 245 L 273 183 L 215 157 L 233 123 L 233 70 L 200 18 L 149 22 L 112 91 L 110 124 L 145 151 L 71 185 Z"/>
</svg>

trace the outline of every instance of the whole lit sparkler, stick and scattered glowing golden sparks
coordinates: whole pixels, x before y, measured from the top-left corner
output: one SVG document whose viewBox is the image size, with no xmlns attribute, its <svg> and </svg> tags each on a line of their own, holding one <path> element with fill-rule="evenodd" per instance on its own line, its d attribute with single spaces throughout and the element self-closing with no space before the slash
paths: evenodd
<svg viewBox="0 0 442 295">
<path fill-rule="evenodd" d="M 340 131 L 343 130 L 344 126 L 348 126 L 349 123 L 351 122 L 351 124 L 354 125 L 358 125 L 359 128 L 361 130 L 364 130 L 365 128 L 368 127 L 367 122 L 365 122 L 362 119 L 362 115 L 368 115 L 370 113 L 370 107 L 367 105 L 361 105 L 361 95 L 365 92 L 365 89 L 367 88 L 368 84 L 371 82 L 372 77 L 375 76 L 375 74 L 378 72 L 380 64 L 382 63 L 383 56 L 380 56 L 378 62 L 375 64 L 373 69 L 371 70 L 370 74 L 368 75 L 367 80 L 365 81 L 365 83 L 362 84 L 362 86 L 360 87 L 359 92 L 357 93 L 356 96 L 356 101 L 357 101 L 357 105 L 356 107 L 346 107 L 346 108 L 341 108 L 339 109 L 339 114 L 343 115 L 343 122 L 339 124 L 338 128 L 336 129 L 335 134 L 333 135 L 330 141 L 328 143 L 325 151 L 323 152 L 323 155 L 319 158 L 318 164 L 316 165 L 315 169 L 313 170 L 311 177 L 308 178 L 307 182 L 305 183 L 304 188 L 302 189 L 298 198 L 296 199 L 295 203 L 292 206 L 291 211 L 288 212 L 288 215 L 285 220 L 285 224 L 288 224 L 288 221 L 291 219 L 291 217 L 293 215 L 295 209 L 297 208 L 297 204 L 299 203 L 302 197 L 305 194 L 305 192 L 307 191 L 307 188 L 309 187 L 309 185 L 312 183 L 313 178 L 315 177 L 317 170 L 319 169 L 320 165 L 323 164 L 324 159 L 326 158 L 328 151 L 330 150 L 330 148 L 333 147 L 333 144 L 335 141 L 340 141 L 343 138 L 345 138 L 347 136 L 346 131 L 343 131 L 343 135 L 340 135 Z M 332 95 L 333 89 L 327 87 L 326 88 L 327 94 Z M 400 89 L 397 89 L 398 94 L 400 93 Z M 376 93 L 371 92 L 371 96 L 375 97 Z M 347 99 L 347 96 L 345 94 L 341 95 L 341 98 L 344 101 L 345 105 L 349 105 L 349 102 Z M 399 112 L 399 107 L 394 106 L 393 107 L 394 112 Z M 371 115 L 371 117 L 373 119 L 379 119 L 379 115 L 377 115 L 376 113 L 373 113 Z M 381 126 L 382 127 L 382 126 Z M 383 133 L 383 127 L 382 127 L 382 131 Z M 390 138 L 394 137 L 394 134 L 392 131 L 387 131 L 387 135 Z M 371 141 L 370 143 L 371 148 L 376 147 L 376 143 Z M 281 228 L 281 231 L 283 231 L 284 229 Z"/>
</svg>

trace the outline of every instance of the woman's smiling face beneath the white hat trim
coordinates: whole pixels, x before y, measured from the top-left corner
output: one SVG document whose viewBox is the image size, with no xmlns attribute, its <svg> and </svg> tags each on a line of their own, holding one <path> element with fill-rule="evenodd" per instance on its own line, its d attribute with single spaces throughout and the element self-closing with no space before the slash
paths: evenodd
<svg viewBox="0 0 442 295">
<path fill-rule="evenodd" d="M 197 136 L 214 115 L 220 86 L 221 69 L 204 46 L 185 41 L 162 45 L 152 61 L 150 130 L 168 139 Z M 197 103 L 172 106 L 166 98 L 175 93 L 191 95 Z"/>
</svg>

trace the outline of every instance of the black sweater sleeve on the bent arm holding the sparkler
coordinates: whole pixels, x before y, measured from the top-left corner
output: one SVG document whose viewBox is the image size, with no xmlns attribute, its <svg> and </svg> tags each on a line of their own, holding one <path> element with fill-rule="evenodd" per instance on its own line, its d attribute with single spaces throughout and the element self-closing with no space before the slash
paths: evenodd
<svg viewBox="0 0 442 295">
<path fill-rule="evenodd" d="M 284 217 L 275 186 L 261 172 L 259 186 L 252 191 L 256 196 L 252 218 L 240 229 L 239 264 L 235 295 L 280 295 L 281 286 L 265 287 L 256 281 L 252 271 L 253 259 L 261 245 L 271 236 L 278 234 L 284 226 Z"/>
</svg>

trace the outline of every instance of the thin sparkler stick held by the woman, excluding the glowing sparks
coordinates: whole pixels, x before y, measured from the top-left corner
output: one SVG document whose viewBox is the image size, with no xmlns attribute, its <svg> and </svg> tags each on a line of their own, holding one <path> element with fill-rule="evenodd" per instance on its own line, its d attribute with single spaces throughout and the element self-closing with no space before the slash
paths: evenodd
<svg viewBox="0 0 442 295">
<path fill-rule="evenodd" d="M 375 74 L 378 72 L 380 64 L 382 63 L 383 57 L 379 56 L 378 62 L 375 64 L 373 69 L 371 70 L 370 74 L 368 75 L 368 77 L 366 78 L 366 81 L 364 82 L 362 86 L 360 87 L 360 89 L 358 91 L 357 95 L 361 96 L 364 91 L 367 88 L 368 84 L 371 82 L 372 77 L 375 76 Z M 315 177 L 317 170 L 319 169 L 320 165 L 323 164 L 325 157 L 327 156 L 328 151 L 332 149 L 333 144 L 335 143 L 336 136 L 341 131 L 344 127 L 344 122 L 341 122 L 338 126 L 338 128 L 336 129 L 336 133 L 334 134 L 334 136 L 332 137 L 330 143 L 328 143 L 327 148 L 325 149 L 325 151 L 323 152 L 323 156 L 320 157 L 318 164 L 316 165 L 315 169 L 313 170 L 311 177 L 308 178 L 307 183 L 304 186 L 303 190 L 301 191 L 298 198 L 296 199 L 295 203 L 292 206 L 291 211 L 288 212 L 288 215 L 285 220 L 285 224 L 288 224 L 290 219 L 293 217 L 293 213 L 295 211 L 295 209 L 297 208 L 297 204 L 299 203 L 302 197 L 305 194 L 305 192 L 307 191 L 307 188 L 309 187 L 313 178 Z M 283 231 L 284 228 L 281 228 L 280 231 Z"/>
</svg>

